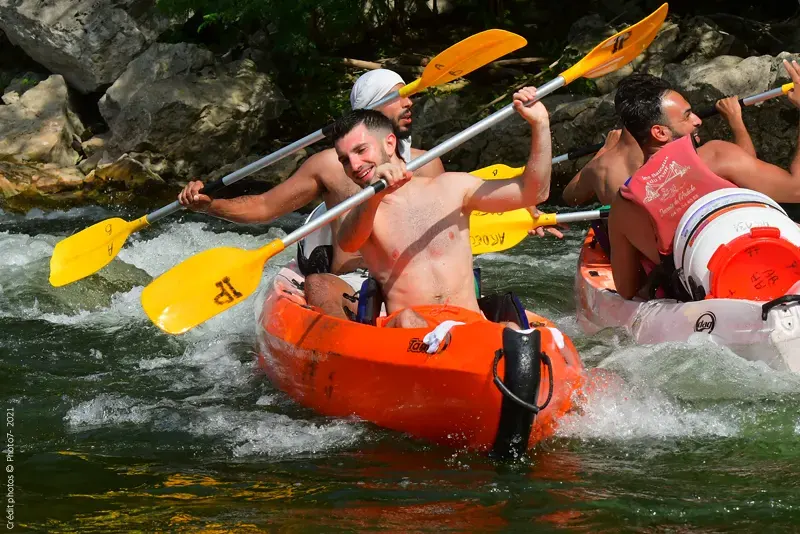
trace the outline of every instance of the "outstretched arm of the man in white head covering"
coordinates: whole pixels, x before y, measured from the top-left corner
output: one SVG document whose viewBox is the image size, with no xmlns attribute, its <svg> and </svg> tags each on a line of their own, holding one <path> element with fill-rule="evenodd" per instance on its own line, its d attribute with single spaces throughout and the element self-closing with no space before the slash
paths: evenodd
<svg viewBox="0 0 800 534">
<path fill-rule="evenodd" d="M 260 195 L 212 199 L 201 195 L 204 184 L 194 181 L 181 191 L 178 200 L 190 210 L 231 222 L 266 223 L 305 206 L 325 192 L 319 178 L 320 172 L 325 172 L 321 167 L 329 159 L 325 152 L 314 154 L 292 176 Z M 339 165 L 335 154 L 333 164 Z"/>
</svg>

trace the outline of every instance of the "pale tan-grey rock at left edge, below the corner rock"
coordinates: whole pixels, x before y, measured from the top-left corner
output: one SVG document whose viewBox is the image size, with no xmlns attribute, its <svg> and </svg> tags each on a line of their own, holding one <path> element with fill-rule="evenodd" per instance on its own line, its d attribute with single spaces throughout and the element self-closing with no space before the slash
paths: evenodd
<svg viewBox="0 0 800 534">
<path fill-rule="evenodd" d="M 50 76 L 16 103 L 0 106 L 0 158 L 74 165 L 79 158 L 74 144 L 81 133 L 83 125 L 69 108 L 61 76 Z"/>
</svg>

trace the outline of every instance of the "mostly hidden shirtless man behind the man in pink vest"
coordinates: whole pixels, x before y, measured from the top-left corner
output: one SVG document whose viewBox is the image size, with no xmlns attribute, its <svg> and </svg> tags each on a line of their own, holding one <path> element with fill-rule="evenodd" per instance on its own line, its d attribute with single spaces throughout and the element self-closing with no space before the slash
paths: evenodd
<svg viewBox="0 0 800 534">
<path fill-rule="evenodd" d="M 636 98 L 635 91 L 641 77 L 641 74 L 632 74 L 619 83 L 614 97 L 617 114 L 620 102 L 630 102 Z M 739 97 L 720 99 L 715 107 L 730 125 L 734 143 L 756 157 L 756 149 L 742 119 Z M 564 202 L 570 206 L 579 206 L 596 197 L 601 204 L 611 204 L 625 180 L 643 164 L 644 154 L 631 133 L 626 128 L 612 130 L 606 137 L 603 148 L 564 188 Z"/>
</svg>

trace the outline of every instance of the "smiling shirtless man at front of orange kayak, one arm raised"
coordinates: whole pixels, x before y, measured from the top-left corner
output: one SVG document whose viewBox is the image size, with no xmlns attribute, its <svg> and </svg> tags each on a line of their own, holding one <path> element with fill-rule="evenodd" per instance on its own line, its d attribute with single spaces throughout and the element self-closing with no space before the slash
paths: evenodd
<svg viewBox="0 0 800 534">
<path fill-rule="evenodd" d="M 482 320 L 472 275 L 469 216 L 503 212 L 545 201 L 550 192 L 550 123 L 536 90 L 514 95 L 514 107 L 531 125 L 525 172 L 513 180 L 483 181 L 462 172 L 406 171 L 391 124 L 380 114 L 354 112 L 334 126 L 334 148 L 345 173 L 364 187 L 388 187 L 345 215 L 339 245 L 360 250 L 383 290 L 387 318 L 379 324 L 425 327 L 445 319 Z M 413 308 L 413 309 L 412 309 Z"/>
</svg>

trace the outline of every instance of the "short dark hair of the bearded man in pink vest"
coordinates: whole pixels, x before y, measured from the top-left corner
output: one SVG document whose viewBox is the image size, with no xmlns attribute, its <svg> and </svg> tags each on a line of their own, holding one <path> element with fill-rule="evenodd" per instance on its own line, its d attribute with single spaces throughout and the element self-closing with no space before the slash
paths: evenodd
<svg viewBox="0 0 800 534">
<path fill-rule="evenodd" d="M 652 126 L 666 122 L 661 101 L 670 91 L 669 82 L 650 74 L 631 74 L 619 82 L 614 106 L 622 125 L 640 145 L 647 141 Z"/>
</svg>

